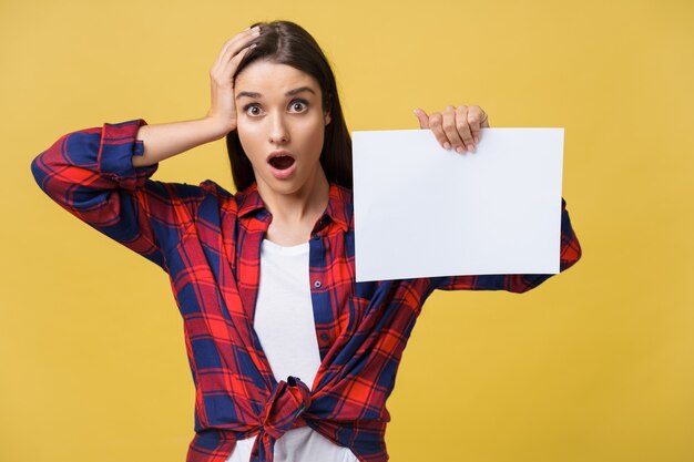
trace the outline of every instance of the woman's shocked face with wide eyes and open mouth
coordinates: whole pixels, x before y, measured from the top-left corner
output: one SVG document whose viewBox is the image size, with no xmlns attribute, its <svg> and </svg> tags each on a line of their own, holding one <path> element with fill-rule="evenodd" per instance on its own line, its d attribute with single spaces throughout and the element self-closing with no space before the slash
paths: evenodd
<svg viewBox="0 0 694 462">
<path fill-rule="evenodd" d="M 236 75 L 234 92 L 238 137 L 261 193 L 310 189 L 324 177 L 319 158 L 330 122 L 318 82 L 289 65 L 255 61 Z"/>
</svg>

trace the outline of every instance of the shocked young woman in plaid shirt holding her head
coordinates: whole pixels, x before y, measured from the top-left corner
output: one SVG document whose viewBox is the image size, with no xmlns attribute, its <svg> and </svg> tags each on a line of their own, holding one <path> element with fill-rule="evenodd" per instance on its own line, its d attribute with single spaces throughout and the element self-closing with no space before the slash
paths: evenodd
<svg viewBox="0 0 694 462">
<path fill-rule="evenodd" d="M 256 24 L 224 44 L 211 80 L 206 116 L 68 134 L 33 161 L 34 177 L 169 274 L 196 387 L 187 462 L 386 461 L 386 399 L 429 294 L 521 292 L 550 275 L 355 283 L 351 144 L 314 39 Z M 478 106 L 417 117 L 461 153 L 489 126 Z M 223 136 L 238 193 L 150 179 Z M 564 207 L 562 270 L 581 255 Z"/>
</svg>

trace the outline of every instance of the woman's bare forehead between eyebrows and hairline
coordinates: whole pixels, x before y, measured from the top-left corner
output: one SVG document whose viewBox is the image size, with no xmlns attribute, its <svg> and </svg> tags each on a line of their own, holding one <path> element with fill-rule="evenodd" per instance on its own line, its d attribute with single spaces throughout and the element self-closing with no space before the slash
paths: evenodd
<svg viewBox="0 0 694 462">
<path fill-rule="evenodd" d="M 234 90 L 248 91 L 262 95 L 283 94 L 287 91 L 308 86 L 320 94 L 316 79 L 304 71 L 287 64 L 271 61 L 255 61 L 236 75 Z"/>
</svg>

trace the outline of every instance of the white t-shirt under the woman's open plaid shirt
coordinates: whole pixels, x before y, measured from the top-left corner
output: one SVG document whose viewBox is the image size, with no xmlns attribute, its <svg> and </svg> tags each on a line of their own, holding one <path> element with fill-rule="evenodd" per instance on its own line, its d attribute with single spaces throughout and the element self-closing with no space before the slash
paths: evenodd
<svg viewBox="0 0 694 462">
<path fill-rule="evenodd" d="M 283 247 L 263 240 L 261 281 L 253 320 L 277 381 L 288 376 L 309 389 L 320 366 L 310 301 L 308 243 Z M 248 462 L 256 437 L 236 442 L 227 462 Z M 310 427 L 288 430 L 275 442 L 275 462 L 358 462 L 349 448 L 335 444 Z"/>
</svg>

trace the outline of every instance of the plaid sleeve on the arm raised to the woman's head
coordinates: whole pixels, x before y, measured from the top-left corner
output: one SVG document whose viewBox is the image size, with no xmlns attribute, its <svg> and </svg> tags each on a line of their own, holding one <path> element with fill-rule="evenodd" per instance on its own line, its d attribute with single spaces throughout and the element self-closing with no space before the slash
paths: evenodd
<svg viewBox="0 0 694 462">
<path fill-rule="evenodd" d="M 196 186 L 149 179 L 157 164 L 135 167 L 142 120 L 70 133 L 37 156 L 31 170 L 43 192 L 72 215 L 166 269 L 202 198 Z"/>
</svg>

